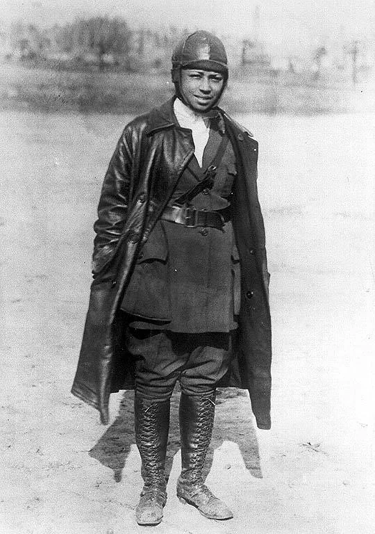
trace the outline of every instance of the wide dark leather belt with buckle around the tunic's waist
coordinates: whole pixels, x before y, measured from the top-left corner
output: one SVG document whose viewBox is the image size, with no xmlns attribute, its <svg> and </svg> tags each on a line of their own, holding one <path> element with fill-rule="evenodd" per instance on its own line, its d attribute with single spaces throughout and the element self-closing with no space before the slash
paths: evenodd
<svg viewBox="0 0 375 534">
<path fill-rule="evenodd" d="M 189 228 L 197 226 L 222 229 L 225 223 L 231 218 L 231 207 L 217 209 L 215 211 L 205 211 L 191 207 L 167 206 L 161 218 L 169 220 L 170 223 L 177 223 Z"/>
</svg>

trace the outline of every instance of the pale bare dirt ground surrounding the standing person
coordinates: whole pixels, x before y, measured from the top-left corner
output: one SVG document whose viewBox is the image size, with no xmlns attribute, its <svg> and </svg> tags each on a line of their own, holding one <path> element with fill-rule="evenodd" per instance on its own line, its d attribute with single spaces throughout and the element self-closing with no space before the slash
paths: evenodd
<svg viewBox="0 0 375 534">
<path fill-rule="evenodd" d="M 70 393 L 88 305 L 92 223 L 128 118 L 1 113 L 3 534 L 124 534 L 142 486 L 131 392 L 111 423 Z M 209 521 L 175 495 L 156 534 L 372 534 L 374 115 L 242 116 L 260 141 L 274 324 L 272 430 L 219 396 Z M 147 529 L 146 529 L 147 530 Z"/>
</svg>

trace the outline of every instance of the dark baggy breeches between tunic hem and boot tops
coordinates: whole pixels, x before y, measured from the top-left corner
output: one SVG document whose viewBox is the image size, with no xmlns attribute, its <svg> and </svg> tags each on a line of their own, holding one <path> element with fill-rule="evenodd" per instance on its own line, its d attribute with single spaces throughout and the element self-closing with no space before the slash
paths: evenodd
<svg viewBox="0 0 375 534">
<path fill-rule="evenodd" d="M 126 348 L 135 358 L 135 389 L 163 401 L 177 380 L 186 395 L 209 395 L 231 359 L 231 334 L 185 334 L 128 328 Z"/>
</svg>

